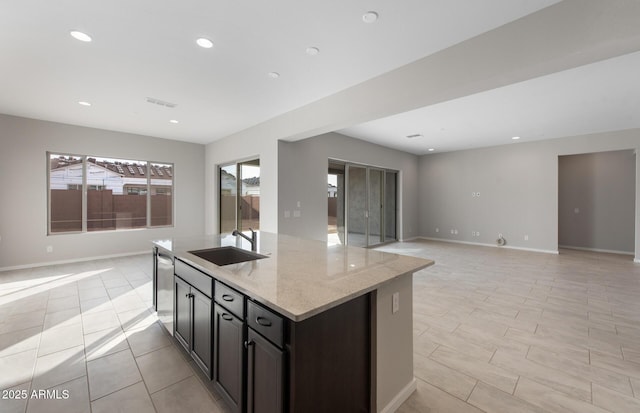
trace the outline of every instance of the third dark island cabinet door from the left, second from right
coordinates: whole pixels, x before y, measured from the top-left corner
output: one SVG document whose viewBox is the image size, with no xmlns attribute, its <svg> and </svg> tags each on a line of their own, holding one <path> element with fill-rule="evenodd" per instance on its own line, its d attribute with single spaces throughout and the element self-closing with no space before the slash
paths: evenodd
<svg viewBox="0 0 640 413">
<path fill-rule="evenodd" d="M 232 411 L 242 412 L 244 323 L 224 307 L 215 304 L 214 327 L 215 387 Z"/>
</svg>

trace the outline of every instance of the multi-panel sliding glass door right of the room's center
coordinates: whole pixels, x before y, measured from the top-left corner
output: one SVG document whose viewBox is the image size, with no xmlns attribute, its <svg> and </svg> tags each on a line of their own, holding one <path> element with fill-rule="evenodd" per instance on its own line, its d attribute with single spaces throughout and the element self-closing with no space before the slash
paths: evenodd
<svg viewBox="0 0 640 413">
<path fill-rule="evenodd" d="M 371 247 L 396 241 L 397 177 L 397 171 L 330 160 L 328 242 Z"/>
</svg>

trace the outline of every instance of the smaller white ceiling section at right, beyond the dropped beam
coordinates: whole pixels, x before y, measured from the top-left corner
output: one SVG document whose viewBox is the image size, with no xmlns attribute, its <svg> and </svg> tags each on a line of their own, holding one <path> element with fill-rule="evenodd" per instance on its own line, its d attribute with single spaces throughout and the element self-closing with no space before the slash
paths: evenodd
<svg viewBox="0 0 640 413">
<path fill-rule="evenodd" d="M 426 154 L 640 128 L 639 73 L 636 52 L 338 132 Z"/>
</svg>

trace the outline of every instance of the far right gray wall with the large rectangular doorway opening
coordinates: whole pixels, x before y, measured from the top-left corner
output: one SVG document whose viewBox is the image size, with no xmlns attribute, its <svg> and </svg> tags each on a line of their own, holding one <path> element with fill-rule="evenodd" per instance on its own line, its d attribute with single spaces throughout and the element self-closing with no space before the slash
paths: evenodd
<svg viewBox="0 0 640 413">
<path fill-rule="evenodd" d="M 502 233 L 508 246 L 555 252 L 558 157 L 638 147 L 640 129 L 631 129 L 424 155 L 419 160 L 420 235 L 495 245 Z M 628 225 L 635 229 L 638 258 L 637 166 L 635 173 L 635 222 Z M 473 236 L 474 231 L 480 235 Z"/>
</svg>

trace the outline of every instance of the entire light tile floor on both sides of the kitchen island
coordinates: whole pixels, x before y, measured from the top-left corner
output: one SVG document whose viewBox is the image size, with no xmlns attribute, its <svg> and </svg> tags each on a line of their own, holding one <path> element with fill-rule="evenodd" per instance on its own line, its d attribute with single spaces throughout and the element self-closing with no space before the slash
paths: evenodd
<svg viewBox="0 0 640 413">
<path fill-rule="evenodd" d="M 414 276 L 418 390 L 399 412 L 640 412 L 631 257 L 379 249 L 436 261 Z M 0 412 L 226 411 L 150 310 L 150 255 L 0 273 Z"/>
</svg>

